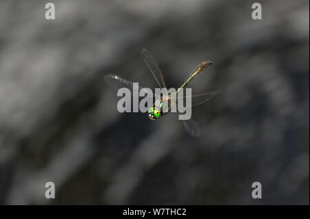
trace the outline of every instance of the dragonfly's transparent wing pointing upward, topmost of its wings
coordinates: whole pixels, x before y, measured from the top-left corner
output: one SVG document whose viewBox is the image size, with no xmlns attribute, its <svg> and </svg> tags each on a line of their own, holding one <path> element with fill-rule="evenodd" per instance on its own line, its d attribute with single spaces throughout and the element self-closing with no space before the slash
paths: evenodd
<svg viewBox="0 0 310 219">
<path fill-rule="evenodd" d="M 163 79 L 163 74 L 161 73 L 161 70 L 158 67 L 158 64 L 156 63 L 154 57 L 149 54 L 149 52 L 146 49 L 141 50 L 142 58 L 145 62 L 145 65 L 149 68 L 149 71 L 152 72 L 158 86 L 160 88 L 166 87 L 165 81 Z"/>
</svg>

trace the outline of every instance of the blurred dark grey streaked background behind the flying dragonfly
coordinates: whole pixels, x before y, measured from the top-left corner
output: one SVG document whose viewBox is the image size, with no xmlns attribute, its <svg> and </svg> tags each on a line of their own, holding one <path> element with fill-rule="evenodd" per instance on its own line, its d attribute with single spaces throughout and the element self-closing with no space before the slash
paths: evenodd
<svg viewBox="0 0 310 219">
<path fill-rule="evenodd" d="M 2 205 L 309 205 L 309 1 L 51 2 L 0 1 Z M 142 48 L 168 87 L 214 62 L 199 138 L 117 111 L 106 74 L 156 87 Z"/>
</svg>

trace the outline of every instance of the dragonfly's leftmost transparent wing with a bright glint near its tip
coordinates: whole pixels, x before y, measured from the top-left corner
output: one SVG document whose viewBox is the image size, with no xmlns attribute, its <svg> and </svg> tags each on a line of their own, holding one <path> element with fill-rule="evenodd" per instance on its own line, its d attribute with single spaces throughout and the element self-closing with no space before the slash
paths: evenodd
<svg viewBox="0 0 310 219">
<path fill-rule="evenodd" d="M 132 81 L 128 81 L 126 79 L 123 79 L 121 76 L 117 76 L 115 74 L 107 74 L 105 76 L 105 82 L 110 85 L 111 87 L 114 87 L 116 90 L 122 88 L 122 87 L 127 87 L 132 94 L 133 92 L 133 83 Z M 154 96 L 152 90 L 149 90 L 147 88 L 143 88 L 141 86 L 138 87 L 138 91 L 140 92 L 143 90 L 145 93 Z M 136 96 L 136 95 L 135 95 Z"/>
</svg>

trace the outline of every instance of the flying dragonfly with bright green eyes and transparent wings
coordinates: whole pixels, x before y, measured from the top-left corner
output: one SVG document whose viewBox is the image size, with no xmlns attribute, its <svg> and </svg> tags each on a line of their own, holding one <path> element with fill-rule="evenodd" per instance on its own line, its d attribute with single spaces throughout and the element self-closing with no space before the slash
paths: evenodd
<svg viewBox="0 0 310 219">
<path fill-rule="evenodd" d="M 146 49 L 141 50 L 141 56 L 143 58 L 143 61 L 145 62 L 145 65 L 149 68 L 149 71 L 152 73 L 154 76 L 154 79 L 158 85 L 159 88 L 167 88 L 165 85 L 165 81 L 163 79 L 163 73 L 161 72 L 160 68 L 158 67 L 158 64 L 156 63 L 154 57 L 152 54 L 150 54 Z M 178 93 L 194 79 L 196 76 L 201 74 L 203 70 L 205 70 L 209 65 L 211 65 L 211 61 L 204 61 L 198 65 L 194 71 L 189 74 L 188 78 L 185 80 L 185 82 L 178 87 L 178 90 L 176 90 L 176 94 L 171 95 L 164 95 L 164 96 L 158 96 L 156 94 L 153 94 L 152 92 L 149 92 L 149 90 L 145 90 L 144 87 L 139 86 L 138 90 L 139 92 L 141 90 L 144 90 L 145 93 L 152 95 L 155 98 L 154 105 L 149 108 L 147 111 L 147 116 L 152 120 L 157 120 L 158 118 L 161 118 L 168 114 L 171 111 L 171 103 L 172 103 L 172 98 L 176 98 L 175 102 L 178 104 Z M 111 87 L 114 87 L 116 90 L 122 88 L 122 87 L 127 87 L 132 94 L 133 92 L 133 82 L 128 81 L 127 79 L 123 79 L 121 76 L 117 76 L 116 74 L 107 74 L 105 76 L 105 82 L 110 85 Z M 207 101 L 209 101 L 211 98 L 213 98 L 216 94 L 220 93 L 221 91 L 214 91 L 214 92 L 206 92 L 203 94 L 196 94 L 196 95 L 191 95 L 191 96 L 182 96 L 180 98 L 192 98 L 192 103 L 191 105 L 186 105 L 186 107 L 194 107 L 196 105 L 203 104 Z M 167 103 L 168 110 L 163 110 L 163 103 Z M 188 120 L 183 120 L 184 127 L 186 131 L 194 137 L 198 137 L 200 135 L 200 127 L 194 119 L 189 118 Z"/>
</svg>

